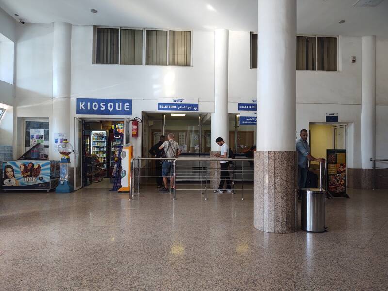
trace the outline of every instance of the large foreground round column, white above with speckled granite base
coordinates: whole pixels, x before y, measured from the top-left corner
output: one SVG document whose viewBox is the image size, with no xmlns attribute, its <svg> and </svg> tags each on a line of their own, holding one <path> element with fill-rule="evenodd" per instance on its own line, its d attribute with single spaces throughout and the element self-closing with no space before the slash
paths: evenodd
<svg viewBox="0 0 388 291">
<path fill-rule="evenodd" d="M 258 0 L 258 37 L 254 226 L 289 233 L 297 229 L 296 0 Z"/>
</svg>

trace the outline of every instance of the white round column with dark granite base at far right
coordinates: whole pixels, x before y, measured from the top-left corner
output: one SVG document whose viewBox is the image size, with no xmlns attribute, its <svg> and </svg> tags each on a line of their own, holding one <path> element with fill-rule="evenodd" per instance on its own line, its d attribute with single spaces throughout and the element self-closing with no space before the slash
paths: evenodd
<svg viewBox="0 0 388 291">
<path fill-rule="evenodd" d="M 372 189 L 376 154 L 376 36 L 363 36 L 361 55 L 361 187 Z"/>
</svg>

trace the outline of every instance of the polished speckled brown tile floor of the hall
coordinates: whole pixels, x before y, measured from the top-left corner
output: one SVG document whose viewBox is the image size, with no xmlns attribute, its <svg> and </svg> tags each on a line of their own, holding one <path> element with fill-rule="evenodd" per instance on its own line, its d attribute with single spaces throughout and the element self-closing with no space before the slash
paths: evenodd
<svg viewBox="0 0 388 291">
<path fill-rule="evenodd" d="M 387 290 L 388 191 L 327 202 L 327 233 L 253 227 L 253 196 L 0 193 L 0 290 Z"/>
</svg>

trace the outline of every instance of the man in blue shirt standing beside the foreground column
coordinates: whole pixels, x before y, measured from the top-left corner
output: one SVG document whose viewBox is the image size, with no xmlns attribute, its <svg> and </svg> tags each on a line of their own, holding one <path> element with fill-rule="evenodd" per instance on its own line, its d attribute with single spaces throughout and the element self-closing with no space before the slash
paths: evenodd
<svg viewBox="0 0 388 291">
<path fill-rule="evenodd" d="M 298 152 L 298 186 L 299 189 L 305 188 L 308 161 L 323 162 L 323 158 L 314 158 L 310 153 L 310 146 L 307 143 L 308 133 L 306 129 L 300 131 L 300 138 L 296 140 L 296 151 Z"/>
</svg>

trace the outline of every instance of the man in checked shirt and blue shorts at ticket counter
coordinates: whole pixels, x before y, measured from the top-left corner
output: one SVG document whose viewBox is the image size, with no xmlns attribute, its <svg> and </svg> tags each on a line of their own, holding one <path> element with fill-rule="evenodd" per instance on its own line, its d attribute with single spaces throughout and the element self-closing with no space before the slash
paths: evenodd
<svg viewBox="0 0 388 291">
<path fill-rule="evenodd" d="M 180 155 L 180 147 L 179 144 L 174 141 L 174 133 L 169 133 L 167 138 L 168 141 L 165 141 L 162 146 L 159 147 L 160 150 L 164 148 L 166 158 L 169 160 L 164 160 L 162 164 L 162 176 L 164 187 L 159 190 L 160 192 L 170 192 L 167 186 L 167 177 L 171 176 L 170 186 L 171 189 L 174 185 L 174 172 L 172 171 L 172 162 Z M 171 175 L 170 175 L 171 173 Z"/>
</svg>

